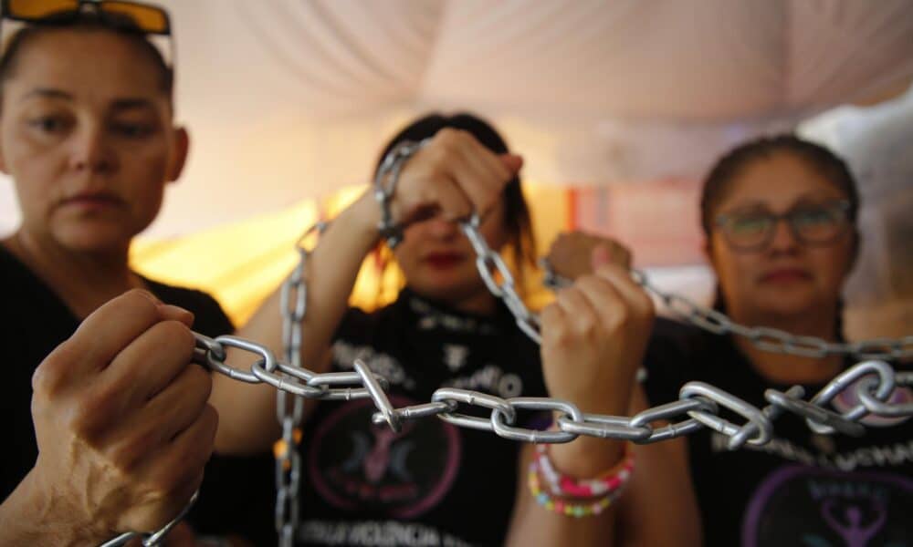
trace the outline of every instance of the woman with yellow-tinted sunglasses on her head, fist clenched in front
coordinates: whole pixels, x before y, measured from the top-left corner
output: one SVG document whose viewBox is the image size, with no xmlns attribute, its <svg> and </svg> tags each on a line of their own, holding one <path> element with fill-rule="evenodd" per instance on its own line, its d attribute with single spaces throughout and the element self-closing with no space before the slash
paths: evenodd
<svg viewBox="0 0 913 547">
<path fill-rule="evenodd" d="M 190 327 L 232 330 L 209 295 L 145 279 L 128 263 L 131 239 L 159 212 L 188 149 L 173 122 L 172 67 L 148 40 L 168 33 L 168 16 L 129 2 L 3 8 L 27 25 L 0 59 L 0 169 L 23 217 L 0 242 L 0 544 L 151 532 L 200 485 L 215 435 L 211 380 L 190 364 Z M 269 485 L 268 468 L 243 470 Z M 216 487 L 203 490 L 198 509 L 218 514 L 214 526 L 249 513 L 213 507 Z"/>
</svg>

